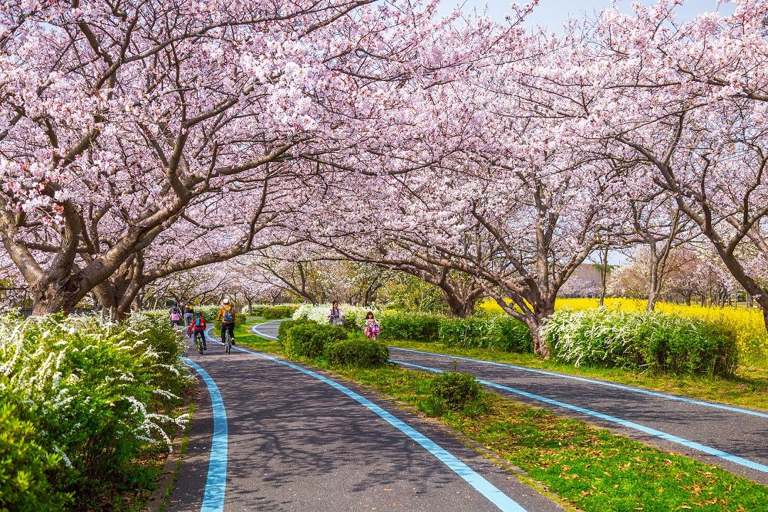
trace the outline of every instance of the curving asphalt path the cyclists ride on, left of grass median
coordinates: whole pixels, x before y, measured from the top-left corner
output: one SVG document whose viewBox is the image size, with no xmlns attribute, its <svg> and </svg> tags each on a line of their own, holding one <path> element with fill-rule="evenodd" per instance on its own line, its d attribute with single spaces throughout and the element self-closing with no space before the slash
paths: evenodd
<svg viewBox="0 0 768 512">
<path fill-rule="evenodd" d="M 205 355 L 190 347 L 187 356 L 216 382 L 227 412 L 227 512 L 498 510 L 402 431 L 311 375 L 259 355 L 226 355 L 216 342 Z M 564 510 L 441 430 L 342 384 L 439 444 L 524 510 Z M 202 379 L 197 389 L 188 451 L 170 496 L 174 511 L 201 510 L 203 503 L 213 420 Z"/>
</svg>

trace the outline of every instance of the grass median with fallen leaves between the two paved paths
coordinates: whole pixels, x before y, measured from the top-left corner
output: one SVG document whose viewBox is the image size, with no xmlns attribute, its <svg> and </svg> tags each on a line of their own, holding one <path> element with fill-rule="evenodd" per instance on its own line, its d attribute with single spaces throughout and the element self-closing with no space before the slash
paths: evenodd
<svg viewBox="0 0 768 512">
<path fill-rule="evenodd" d="M 238 343 L 261 352 L 283 353 L 279 342 L 237 329 Z M 431 346 L 431 345 L 430 345 Z M 303 361 L 329 368 L 323 358 Z M 397 365 L 332 368 L 344 378 L 429 410 L 432 374 Z M 560 418 L 540 408 L 486 393 L 487 412 L 448 413 L 439 419 L 528 472 L 522 477 L 558 494 L 562 504 L 584 512 L 645 510 L 768 510 L 768 487 L 717 466 L 650 448 Z"/>
</svg>

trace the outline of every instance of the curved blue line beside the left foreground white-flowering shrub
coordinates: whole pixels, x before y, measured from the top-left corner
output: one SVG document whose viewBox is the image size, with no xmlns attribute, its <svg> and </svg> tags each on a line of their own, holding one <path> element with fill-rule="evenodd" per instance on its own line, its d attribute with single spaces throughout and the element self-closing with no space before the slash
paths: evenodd
<svg viewBox="0 0 768 512">
<path fill-rule="evenodd" d="M 227 490 L 227 411 L 221 399 L 219 387 L 200 365 L 190 358 L 182 357 L 203 378 L 208 387 L 210 402 L 214 406 L 214 438 L 210 444 L 208 477 L 205 481 L 203 505 L 200 512 L 222 512 L 224 510 L 224 492 Z"/>
</svg>

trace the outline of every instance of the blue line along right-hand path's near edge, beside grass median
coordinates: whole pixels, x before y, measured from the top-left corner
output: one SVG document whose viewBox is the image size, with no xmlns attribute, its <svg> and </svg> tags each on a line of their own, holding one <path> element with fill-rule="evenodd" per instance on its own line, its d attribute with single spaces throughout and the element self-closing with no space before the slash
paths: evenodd
<svg viewBox="0 0 768 512">
<path fill-rule="evenodd" d="M 444 373 L 443 370 L 439 370 L 437 368 L 429 368 L 427 366 L 413 365 L 412 363 L 409 363 L 409 362 L 395 361 L 394 359 L 390 359 L 389 361 L 402 366 L 419 368 L 420 370 L 425 370 L 427 372 Z M 710 446 L 707 446 L 706 444 L 697 443 L 696 441 L 688 441 L 687 439 L 684 439 L 684 438 L 678 438 L 676 435 L 667 434 L 667 432 L 662 432 L 660 430 L 656 430 L 655 428 L 649 428 L 649 427 L 646 427 L 645 425 L 634 423 L 633 421 L 627 421 L 621 418 L 615 418 L 614 416 L 604 415 L 603 413 L 598 411 L 591 411 L 590 409 L 579 407 L 578 405 L 566 404 L 563 401 L 552 400 L 551 398 L 534 395 L 533 393 L 528 393 L 528 391 L 522 391 L 520 389 L 510 388 L 505 385 L 496 384 L 495 382 L 483 381 L 479 378 L 478 378 L 478 382 L 480 382 L 483 385 L 490 386 L 492 388 L 498 388 L 498 389 L 503 389 L 504 391 L 510 391 L 511 393 L 522 395 L 527 398 L 531 398 L 533 400 L 543 401 L 545 402 L 545 404 L 556 405 L 561 408 L 570 409 L 571 411 L 577 411 L 585 415 L 591 415 L 591 416 L 594 416 L 595 418 L 600 418 L 601 420 L 611 421 L 611 423 L 620 424 L 622 427 L 634 428 L 635 430 L 656 436 L 657 438 L 664 439 L 665 441 L 672 441 L 677 444 L 682 444 L 683 446 L 687 446 L 688 448 L 694 448 L 694 450 L 703 451 L 706 454 L 710 454 L 715 457 L 720 457 L 721 459 L 733 462 L 734 464 L 739 464 L 740 466 L 749 467 L 750 469 L 755 469 L 757 471 L 763 471 L 763 473 L 768 473 L 768 466 L 764 464 L 760 464 L 759 462 L 750 461 L 749 459 L 745 459 L 737 455 L 729 454 L 726 451 L 721 451 L 721 450 L 718 450 L 717 448 L 712 448 Z"/>
</svg>

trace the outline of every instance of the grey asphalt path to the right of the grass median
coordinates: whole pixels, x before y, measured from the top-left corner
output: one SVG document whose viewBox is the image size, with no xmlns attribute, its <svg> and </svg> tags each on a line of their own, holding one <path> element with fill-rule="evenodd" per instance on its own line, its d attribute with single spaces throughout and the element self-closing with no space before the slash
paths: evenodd
<svg viewBox="0 0 768 512">
<path fill-rule="evenodd" d="M 396 347 L 390 347 L 390 358 L 395 362 L 406 363 L 406 368 L 407 365 L 416 365 L 442 371 L 451 370 L 455 360 L 451 356 Z M 485 382 L 518 391 L 492 388 L 492 391 L 499 394 L 526 401 L 531 405 L 550 408 L 558 414 L 600 424 L 667 451 L 696 457 L 707 463 L 720 465 L 733 473 L 746 474 L 756 481 L 768 484 L 768 474 L 765 469 L 760 470 L 760 466 L 764 468 L 768 465 L 768 446 L 765 443 L 768 436 L 768 418 L 752 415 L 746 411 L 719 408 L 717 404 L 716 407 L 710 407 L 703 403 L 691 403 L 675 400 L 672 397 L 647 394 L 628 386 L 611 387 L 600 382 L 588 382 L 588 379 L 579 380 L 552 372 L 535 372 L 524 368 L 512 368 L 511 365 L 494 365 L 465 358 L 457 358 L 456 364 L 460 372 L 468 372 Z M 538 395 L 549 402 L 523 395 L 519 391 Z M 552 401 L 573 407 L 561 407 L 553 404 Z M 597 413 L 598 416 L 574 410 L 576 408 Z M 610 416 L 624 424 L 607 421 L 599 415 Z M 710 447 L 727 452 L 735 456 L 734 459 L 740 457 L 746 460 L 746 463 L 753 463 L 754 467 L 746 467 L 744 464 L 737 464 L 722 457 L 691 449 L 690 446 L 679 442 L 664 440 L 658 435 L 627 427 L 627 422 L 638 424 L 648 430 L 659 431 L 662 435 L 669 434 L 684 441 L 703 444 L 705 448 Z"/>
</svg>

